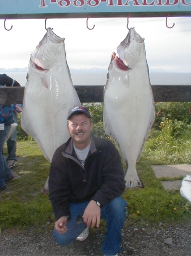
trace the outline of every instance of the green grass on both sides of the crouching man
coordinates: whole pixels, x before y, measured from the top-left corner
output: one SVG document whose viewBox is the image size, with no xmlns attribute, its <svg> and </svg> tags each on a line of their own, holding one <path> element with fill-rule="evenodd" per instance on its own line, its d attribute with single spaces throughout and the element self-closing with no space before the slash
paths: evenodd
<svg viewBox="0 0 191 256">
<path fill-rule="evenodd" d="M 154 164 L 189 164 L 190 143 L 189 129 L 176 137 L 166 127 L 151 130 L 137 163 L 145 188 L 128 189 L 122 195 L 128 201 L 129 225 L 135 222 L 136 225 L 160 222 L 173 225 L 190 221 L 191 204 L 182 198 L 180 191 L 165 191 L 161 180 L 168 179 L 157 179 L 151 168 Z M 14 170 L 22 177 L 11 181 L 6 191 L 0 192 L 0 229 L 29 226 L 40 229 L 47 222 L 53 228 L 54 215 L 48 194 L 41 193 L 50 164 L 34 141 L 18 141 L 17 155 L 19 160 Z"/>
</svg>

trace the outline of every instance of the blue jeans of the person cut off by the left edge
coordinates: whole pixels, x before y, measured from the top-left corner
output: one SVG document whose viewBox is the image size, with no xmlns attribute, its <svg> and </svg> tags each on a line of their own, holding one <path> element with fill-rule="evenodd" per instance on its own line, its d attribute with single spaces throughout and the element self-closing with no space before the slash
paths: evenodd
<svg viewBox="0 0 191 256">
<path fill-rule="evenodd" d="M 5 130 L 0 131 L 0 187 L 5 185 L 5 179 L 9 179 L 12 176 L 10 168 L 7 166 L 7 162 L 3 157 L 3 144 L 5 143 L 5 139 L 7 138 L 7 134 L 11 125 L 5 126 Z"/>
</svg>

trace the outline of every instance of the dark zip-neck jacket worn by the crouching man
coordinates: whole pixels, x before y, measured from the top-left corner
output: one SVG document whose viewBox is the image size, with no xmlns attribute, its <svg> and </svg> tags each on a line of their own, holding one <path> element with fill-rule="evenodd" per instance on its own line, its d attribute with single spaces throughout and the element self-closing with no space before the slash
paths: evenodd
<svg viewBox="0 0 191 256">
<path fill-rule="evenodd" d="M 125 189 L 120 155 L 108 139 L 91 137 L 91 148 L 80 164 L 70 138 L 53 155 L 49 174 L 49 198 L 56 220 L 70 216 L 69 203 L 99 201 L 101 207 Z"/>
</svg>

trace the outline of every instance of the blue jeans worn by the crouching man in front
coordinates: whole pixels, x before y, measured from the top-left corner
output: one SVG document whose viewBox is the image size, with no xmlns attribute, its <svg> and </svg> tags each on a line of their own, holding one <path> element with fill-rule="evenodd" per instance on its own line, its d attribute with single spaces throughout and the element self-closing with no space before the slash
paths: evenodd
<svg viewBox="0 0 191 256">
<path fill-rule="evenodd" d="M 65 234 L 59 234 L 54 229 L 53 236 L 57 243 L 60 243 L 60 245 L 69 245 L 86 229 L 84 222 L 77 224 L 76 220 L 78 215 L 83 216 L 88 203 L 89 201 L 70 204 L 71 220 L 67 222 L 67 232 Z M 124 226 L 126 205 L 126 201 L 118 196 L 109 204 L 105 205 L 105 207 L 101 208 L 101 218 L 105 219 L 107 225 L 107 233 L 105 234 L 102 245 L 104 255 L 115 255 L 121 250 L 121 229 Z"/>
</svg>

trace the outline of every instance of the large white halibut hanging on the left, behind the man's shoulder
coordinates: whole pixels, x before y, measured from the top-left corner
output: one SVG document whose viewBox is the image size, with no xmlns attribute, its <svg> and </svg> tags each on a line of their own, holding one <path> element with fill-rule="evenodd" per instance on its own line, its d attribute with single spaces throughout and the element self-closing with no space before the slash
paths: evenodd
<svg viewBox="0 0 191 256">
<path fill-rule="evenodd" d="M 51 162 L 54 151 L 69 138 L 67 113 L 80 105 L 66 61 L 64 38 L 48 28 L 31 53 L 24 90 L 22 128 Z"/>
</svg>

